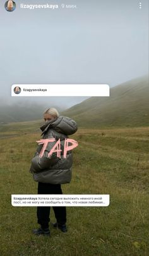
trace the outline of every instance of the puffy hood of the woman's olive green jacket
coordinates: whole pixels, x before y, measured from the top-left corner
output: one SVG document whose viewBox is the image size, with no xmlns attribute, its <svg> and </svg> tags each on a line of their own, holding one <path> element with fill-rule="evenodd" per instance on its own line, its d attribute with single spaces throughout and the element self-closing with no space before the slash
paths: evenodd
<svg viewBox="0 0 149 256">
<path fill-rule="evenodd" d="M 42 125 L 40 129 L 42 130 L 42 134 L 44 134 L 49 129 L 54 129 L 55 131 L 61 132 L 65 135 L 71 135 L 77 131 L 78 127 L 73 119 L 60 116 Z"/>
</svg>

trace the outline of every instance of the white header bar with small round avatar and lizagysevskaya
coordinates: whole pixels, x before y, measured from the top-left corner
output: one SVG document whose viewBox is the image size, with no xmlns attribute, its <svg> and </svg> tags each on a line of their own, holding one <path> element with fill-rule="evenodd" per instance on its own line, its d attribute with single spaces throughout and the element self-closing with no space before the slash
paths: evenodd
<svg viewBox="0 0 149 256">
<path fill-rule="evenodd" d="M 13 84 L 11 96 L 110 96 L 107 84 Z"/>
</svg>

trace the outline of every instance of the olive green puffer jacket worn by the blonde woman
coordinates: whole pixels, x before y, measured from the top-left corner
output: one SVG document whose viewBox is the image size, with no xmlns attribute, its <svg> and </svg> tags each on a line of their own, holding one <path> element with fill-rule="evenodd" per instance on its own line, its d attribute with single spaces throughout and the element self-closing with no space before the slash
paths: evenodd
<svg viewBox="0 0 149 256">
<path fill-rule="evenodd" d="M 34 181 L 64 184 L 71 181 L 72 175 L 72 151 L 68 151 L 66 158 L 63 157 L 64 141 L 68 135 L 74 134 L 77 131 L 77 125 L 74 120 L 69 117 L 60 116 L 54 120 L 46 122 L 40 129 L 42 132 L 42 139 L 54 138 L 56 141 L 61 140 L 61 158 L 57 157 L 57 153 L 52 153 L 48 157 L 49 152 L 53 148 L 56 141 L 47 144 L 43 157 L 39 157 L 43 144 L 37 148 L 35 156 L 32 158 L 32 165 L 30 172 L 33 174 Z"/>
</svg>

